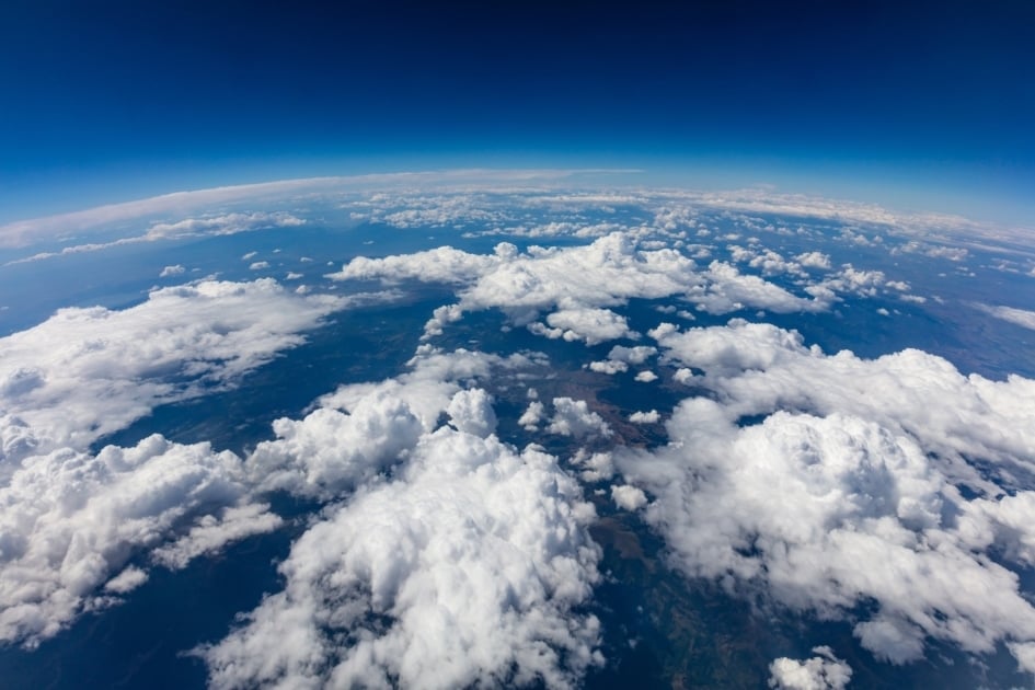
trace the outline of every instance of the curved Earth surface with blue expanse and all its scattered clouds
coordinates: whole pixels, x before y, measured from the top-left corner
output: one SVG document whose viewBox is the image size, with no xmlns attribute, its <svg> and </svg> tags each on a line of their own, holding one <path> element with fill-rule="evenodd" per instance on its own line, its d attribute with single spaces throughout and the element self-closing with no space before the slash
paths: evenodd
<svg viewBox="0 0 1035 690">
<path fill-rule="evenodd" d="M 576 182 L 9 233 L 0 677 L 1030 685 L 1035 248 Z"/>
</svg>

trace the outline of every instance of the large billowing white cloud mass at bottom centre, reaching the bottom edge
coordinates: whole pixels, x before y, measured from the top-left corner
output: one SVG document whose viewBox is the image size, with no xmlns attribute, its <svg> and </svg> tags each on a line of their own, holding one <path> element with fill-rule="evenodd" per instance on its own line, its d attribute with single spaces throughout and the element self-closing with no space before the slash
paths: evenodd
<svg viewBox="0 0 1035 690">
<path fill-rule="evenodd" d="M 317 522 L 285 590 L 198 653 L 215 688 L 551 687 L 590 665 L 594 517 L 550 456 L 449 427 Z"/>
</svg>

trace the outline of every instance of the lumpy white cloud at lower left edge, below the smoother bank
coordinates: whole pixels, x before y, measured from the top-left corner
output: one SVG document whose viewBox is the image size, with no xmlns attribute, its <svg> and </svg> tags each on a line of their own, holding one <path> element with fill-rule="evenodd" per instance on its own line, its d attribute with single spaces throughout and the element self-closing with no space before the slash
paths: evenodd
<svg viewBox="0 0 1035 690">
<path fill-rule="evenodd" d="M 26 459 L 0 488 L 0 641 L 35 645 L 103 606 L 94 593 L 106 582 L 116 594 L 141 584 L 139 568 L 122 570 L 129 560 L 235 505 L 242 479 L 233 453 L 160 436 Z"/>
</svg>

